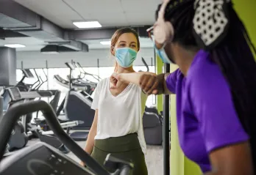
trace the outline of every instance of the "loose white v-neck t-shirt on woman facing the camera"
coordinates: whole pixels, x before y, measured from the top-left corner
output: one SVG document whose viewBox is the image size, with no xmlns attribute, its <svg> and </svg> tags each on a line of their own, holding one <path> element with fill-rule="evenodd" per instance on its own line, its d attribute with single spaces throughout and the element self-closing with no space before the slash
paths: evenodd
<svg viewBox="0 0 256 175">
<path fill-rule="evenodd" d="M 138 133 L 143 153 L 146 153 L 146 141 L 143 133 L 143 113 L 147 95 L 141 87 L 129 83 L 118 96 L 110 92 L 110 78 L 99 81 L 94 92 L 91 108 L 98 109 L 97 134 L 94 139 L 120 137 L 129 133 Z"/>
</svg>

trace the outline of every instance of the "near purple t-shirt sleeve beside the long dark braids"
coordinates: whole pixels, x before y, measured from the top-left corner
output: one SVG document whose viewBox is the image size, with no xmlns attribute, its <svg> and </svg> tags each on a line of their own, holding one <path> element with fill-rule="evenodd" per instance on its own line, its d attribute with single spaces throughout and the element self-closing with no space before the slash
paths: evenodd
<svg viewBox="0 0 256 175">
<path fill-rule="evenodd" d="M 230 88 L 221 71 L 212 69 L 205 72 L 211 73 L 191 78 L 190 93 L 207 152 L 247 141 L 249 136 L 238 119 Z"/>
</svg>

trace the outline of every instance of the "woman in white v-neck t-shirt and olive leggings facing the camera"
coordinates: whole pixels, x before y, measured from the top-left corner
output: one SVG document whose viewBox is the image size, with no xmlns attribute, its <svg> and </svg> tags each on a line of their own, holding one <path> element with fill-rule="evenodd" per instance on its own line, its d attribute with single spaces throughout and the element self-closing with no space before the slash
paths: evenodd
<svg viewBox="0 0 256 175">
<path fill-rule="evenodd" d="M 139 50 L 136 31 L 130 28 L 115 31 L 110 48 L 116 60 L 115 72 L 135 72 L 132 63 Z M 118 88 L 113 88 L 110 78 L 100 81 L 93 97 L 91 108 L 95 110 L 95 117 L 85 152 L 102 165 L 109 153 L 122 160 L 132 160 L 133 174 L 146 175 L 146 142 L 142 125 L 146 98 L 141 87 L 135 84 L 120 83 Z"/>
</svg>

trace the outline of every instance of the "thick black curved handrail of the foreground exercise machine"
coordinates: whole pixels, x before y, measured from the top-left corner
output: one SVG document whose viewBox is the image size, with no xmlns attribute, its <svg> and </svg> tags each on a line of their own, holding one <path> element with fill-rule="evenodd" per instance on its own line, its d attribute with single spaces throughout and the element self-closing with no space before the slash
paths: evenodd
<svg viewBox="0 0 256 175">
<path fill-rule="evenodd" d="M 26 115 L 27 113 L 33 113 L 36 111 L 42 111 L 46 118 L 46 122 L 49 127 L 57 135 L 68 149 L 71 150 L 77 157 L 79 157 L 82 162 L 84 162 L 92 171 L 96 174 L 110 174 L 108 173 L 102 165 L 96 162 L 90 155 L 85 152 L 82 147 L 80 147 L 76 142 L 69 137 L 67 133 L 60 126 L 60 122 L 57 120 L 57 116 L 51 106 L 43 100 L 29 101 L 27 103 L 22 103 L 19 105 L 13 105 L 7 113 L 0 120 L 0 160 L 2 160 L 4 155 L 5 147 L 10 139 L 15 122 L 20 118 L 20 116 Z"/>
</svg>

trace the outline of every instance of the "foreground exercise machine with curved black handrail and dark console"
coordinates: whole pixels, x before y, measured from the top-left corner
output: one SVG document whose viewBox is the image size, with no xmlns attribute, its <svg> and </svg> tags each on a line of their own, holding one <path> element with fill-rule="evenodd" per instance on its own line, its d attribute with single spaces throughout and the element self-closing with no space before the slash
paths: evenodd
<svg viewBox="0 0 256 175">
<path fill-rule="evenodd" d="M 87 167 L 84 168 L 78 163 L 58 152 L 48 144 L 38 143 L 21 149 L 9 157 L 2 159 L 4 149 L 10 137 L 15 121 L 26 113 L 42 111 L 46 116 L 49 126 L 68 149 L 71 150 Z M 76 144 L 62 129 L 57 121 L 52 108 L 48 103 L 38 100 L 15 105 L 4 115 L 0 122 L 0 174 L 16 175 L 20 174 L 88 174 L 88 175 L 131 175 L 133 164 L 120 160 L 108 154 L 104 165 L 115 169 L 114 173 L 108 172 L 102 165 L 96 162 L 78 144 Z M 17 158 L 18 157 L 18 158 Z M 20 157 L 20 158 L 19 158 Z"/>
</svg>

